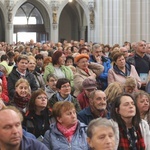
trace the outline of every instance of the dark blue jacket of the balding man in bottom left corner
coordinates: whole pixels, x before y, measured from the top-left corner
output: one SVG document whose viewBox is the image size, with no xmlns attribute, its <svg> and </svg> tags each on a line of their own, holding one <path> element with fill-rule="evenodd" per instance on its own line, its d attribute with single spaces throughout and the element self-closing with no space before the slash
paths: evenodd
<svg viewBox="0 0 150 150">
<path fill-rule="evenodd" d="M 21 150 L 48 150 L 48 148 L 38 140 L 22 137 Z"/>
</svg>

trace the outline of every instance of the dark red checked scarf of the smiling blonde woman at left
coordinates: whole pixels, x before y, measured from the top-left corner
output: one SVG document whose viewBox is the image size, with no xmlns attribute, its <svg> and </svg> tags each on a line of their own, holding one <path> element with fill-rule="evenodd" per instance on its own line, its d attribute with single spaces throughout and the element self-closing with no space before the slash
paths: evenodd
<svg viewBox="0 0 150 150">
<path fill-rule="evenodd" d="M 28 94 L 26 97 L 21 97 L 17 92 L 15 92 L 14 103 L 17 107 L 24 109 L 28 105 L 30 97 L 30 94 Z"/>
</svg>

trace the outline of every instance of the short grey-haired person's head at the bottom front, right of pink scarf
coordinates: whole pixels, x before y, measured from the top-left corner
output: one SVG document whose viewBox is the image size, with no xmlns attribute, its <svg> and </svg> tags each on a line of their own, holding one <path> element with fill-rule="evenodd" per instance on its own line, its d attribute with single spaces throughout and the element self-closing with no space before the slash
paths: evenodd
<svg viewBox="0 0 150 150">
<path fill-rule="evenodd" d="M 119 131 L 113 120 L 97 118 L 87 129 L 87 142 L 91 150 L 117 150 Z"/>
</svg>

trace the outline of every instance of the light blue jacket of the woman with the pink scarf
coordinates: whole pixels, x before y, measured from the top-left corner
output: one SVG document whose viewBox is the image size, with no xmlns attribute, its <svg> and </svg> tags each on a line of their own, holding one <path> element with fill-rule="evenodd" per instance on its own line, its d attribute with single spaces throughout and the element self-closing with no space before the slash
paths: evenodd
<svg viewBox="0 0 150 150">
<path fill-rule="evenodd" d="M 50 125 L 50 130 L 46 131 L 43 143 L 49 150 L 89 150 L 86 141 L 86 125 L 78 122 L 78 127 L 74 133 L 71 143 L 57 129 L 56 123 Z"/>
</svg>

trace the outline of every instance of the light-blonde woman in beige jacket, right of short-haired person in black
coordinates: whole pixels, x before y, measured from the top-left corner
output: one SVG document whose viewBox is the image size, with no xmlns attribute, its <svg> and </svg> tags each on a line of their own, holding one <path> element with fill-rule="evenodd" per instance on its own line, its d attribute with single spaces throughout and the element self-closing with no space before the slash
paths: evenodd
<svg viewBox="0 0 150 150">
<path fill-rule="evenodd" d="M 36 59 L 33 56 L 28 56 L 28 70 L 31 72 L 36 80 L 36 84 L 38 88 L 44 89 L 45 82 L 43 80 L 43 76 L 35 70 L 36 67 Z"/>
</svg>

